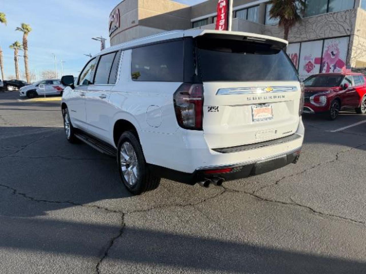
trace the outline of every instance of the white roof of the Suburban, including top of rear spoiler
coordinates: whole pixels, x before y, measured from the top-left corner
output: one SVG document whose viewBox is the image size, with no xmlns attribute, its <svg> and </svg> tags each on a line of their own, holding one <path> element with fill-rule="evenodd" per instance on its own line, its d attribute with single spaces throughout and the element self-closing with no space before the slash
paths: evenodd
<svg viewBox="0 0 366 274">
<path fill-rule="evenodd" d="M 201 35 L 205 35 L 205 34 L 237 35 L 237 36 L 252 38 L 254 41 L 255 40 L 260 40 L 260 41 L 270 40 L 270 41 L 279 42 L 285 46 L 288 45 L 287 41 L 280 39 L 280 38 L 256 34 L 256 33 L 244 33 L 241 31 L 202 30 L 202 29 L 173 30 L 173 31 L 167 31 L 164 33 L 150 35 L 147 37 L 135 39 L 132 41 L 128 41 L 126 43 L 121 43 L 119 45 L 109 47 L 108 49 L 102 50 L 100 53 L 96 54 L 96 56 L 100 55 L 100 54 L 112 52 L 113 50 L 127 49 L 127 48 L 131 48 L 131 47 L 141 46 L 141 45 L 145 45 L 145 44 L 149 44 L 149 43 L 155 43 L 155 42 L 159 42 L 159 41 L 175 39 L 175 38 L 180 38 L 180 37 L 197 37 L 197 36 L 201 36 Z"/>
</svg>

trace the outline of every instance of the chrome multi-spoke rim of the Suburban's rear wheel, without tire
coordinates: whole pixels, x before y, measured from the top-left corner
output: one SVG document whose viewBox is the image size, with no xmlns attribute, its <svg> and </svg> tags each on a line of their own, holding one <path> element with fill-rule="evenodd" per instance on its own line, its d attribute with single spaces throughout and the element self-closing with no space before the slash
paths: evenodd
<svg viewBox="0 0 366 274">
<path fill-rule="evenodd" d="M 121 146 L 120 164 L 124 179 L 130 186 L 137 183 L 138 162 L 136 152 L 129 142 L 124 142 Z"/>
</svg>

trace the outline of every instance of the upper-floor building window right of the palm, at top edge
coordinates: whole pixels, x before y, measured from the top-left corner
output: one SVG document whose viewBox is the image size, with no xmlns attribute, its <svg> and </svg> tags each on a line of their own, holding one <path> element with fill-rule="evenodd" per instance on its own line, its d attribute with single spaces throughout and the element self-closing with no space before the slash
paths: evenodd
<svg viewBox="0 0 366 274">
<path fill-rule="evenodd" d="M 363 0 L 365 1 L 365 0 Z M 306 16 L 344 11 L 355 6 L 354 0 L 306 0 Z"/>
</svg>

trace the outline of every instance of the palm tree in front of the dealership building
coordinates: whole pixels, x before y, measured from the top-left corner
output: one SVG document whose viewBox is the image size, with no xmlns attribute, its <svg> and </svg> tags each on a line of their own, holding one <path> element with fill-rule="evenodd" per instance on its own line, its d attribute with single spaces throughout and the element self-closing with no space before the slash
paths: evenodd
<svg viewBox="0 0 366 274">
<path fill-rule="evenodd" d="M 272 19 L 279 19 L 279 26 L 284 28 L 283 38 L 288 40 L 290 29 L 300 22 L 305 12 L 305 0 L 271 0 L 269 16 Z"/>
</svg>

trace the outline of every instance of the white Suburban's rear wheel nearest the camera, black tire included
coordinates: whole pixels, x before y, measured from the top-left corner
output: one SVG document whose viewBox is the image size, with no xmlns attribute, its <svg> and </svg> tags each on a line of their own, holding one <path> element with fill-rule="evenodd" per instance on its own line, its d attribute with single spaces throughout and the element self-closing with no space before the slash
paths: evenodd
<svg viewBox="0 0 366 274">
<path fill-rule="evenodd" d="M 150 172 L 140 142 L 131 131 L 124 132 L 119 139 L 117 162 L 121 180 L 131 193 L 139 195 L 159 186 L 160 178 Z"/>
</svg>

